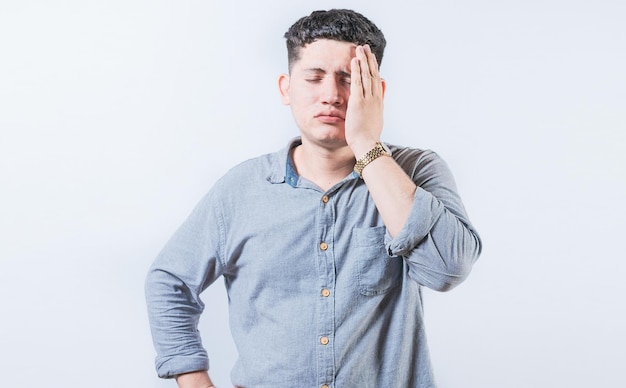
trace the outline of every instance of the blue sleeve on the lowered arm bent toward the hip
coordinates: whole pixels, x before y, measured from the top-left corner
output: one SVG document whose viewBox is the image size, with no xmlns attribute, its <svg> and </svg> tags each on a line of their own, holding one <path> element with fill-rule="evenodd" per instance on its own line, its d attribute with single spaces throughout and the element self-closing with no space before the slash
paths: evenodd
<svg viewBox="0 0 626 388">
<path fill-rule="evenodd" d="M 204 309 L 199 295 L 223 272 L 221 224 L 207 195 L 148 271 L 145 295 L 159 377 L 209 369 L 198 331 Z"/>
</svg>

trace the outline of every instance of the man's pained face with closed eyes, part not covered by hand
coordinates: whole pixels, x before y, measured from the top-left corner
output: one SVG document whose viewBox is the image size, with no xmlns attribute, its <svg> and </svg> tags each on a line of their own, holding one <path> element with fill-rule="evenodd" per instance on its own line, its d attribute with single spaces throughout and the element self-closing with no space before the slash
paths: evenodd
<svg viewBox="0 0 626 388">
<path fill-rule="evenodd" d="M 356 45 L 321 39 L 300 49 L 290 75 L 281 75 L 282 101 L 291 106 L 303 141 L 345 146 L 344 122 L 350 98 L 350 61 Z"/>
</svg>

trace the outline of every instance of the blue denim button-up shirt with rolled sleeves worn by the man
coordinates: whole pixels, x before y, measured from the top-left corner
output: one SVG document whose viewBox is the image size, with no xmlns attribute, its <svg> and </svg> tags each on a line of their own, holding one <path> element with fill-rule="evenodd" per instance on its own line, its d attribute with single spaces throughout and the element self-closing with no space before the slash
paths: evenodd
<svg viewBox="0 0 626 388">
<path fill-rule="evenodd" d="M 159 376 L 209 368 L 200 295 L 223 277 L 236 386 L 434 387 L 421 287 L 456 286 L 480 253 L 449 169 L 390 146 L 418 186 L 392 239 L 356 174 L 326 192 L 296 174 L 298 142 L 230 170 L 156 258 L 146 297 Z"/>
</svg>

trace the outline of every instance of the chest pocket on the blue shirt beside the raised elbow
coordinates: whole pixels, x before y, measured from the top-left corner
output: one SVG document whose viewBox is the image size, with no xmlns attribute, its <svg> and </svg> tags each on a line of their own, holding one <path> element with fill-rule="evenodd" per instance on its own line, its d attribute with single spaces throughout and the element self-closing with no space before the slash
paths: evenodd
<svg viewBox="0 0 626 388">
<path fill-rule="evenodd" d="M 354 230 L 357 287 L 363 295 L 384 294 L 402 279 L 402 258 L 387 254 L 385 231 L 384 226 Z"/>
</svg>

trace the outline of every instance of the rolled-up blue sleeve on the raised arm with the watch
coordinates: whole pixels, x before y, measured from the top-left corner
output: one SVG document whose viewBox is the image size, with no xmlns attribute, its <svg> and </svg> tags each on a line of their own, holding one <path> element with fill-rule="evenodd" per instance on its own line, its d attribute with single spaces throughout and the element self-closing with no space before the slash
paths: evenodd
<svg viewBox="0 0 626 388">
<path fill-rule="evenodd" d="M 480 237 L 443 159 L 432 151 L 402 150 L 397 160 L 417 190 L 404 227 L 388 238 L 387 251 L 405 259 L 409 276 L 420 285 L 450 290 L 469 275 L 482 249 Z"/>
</svg>

